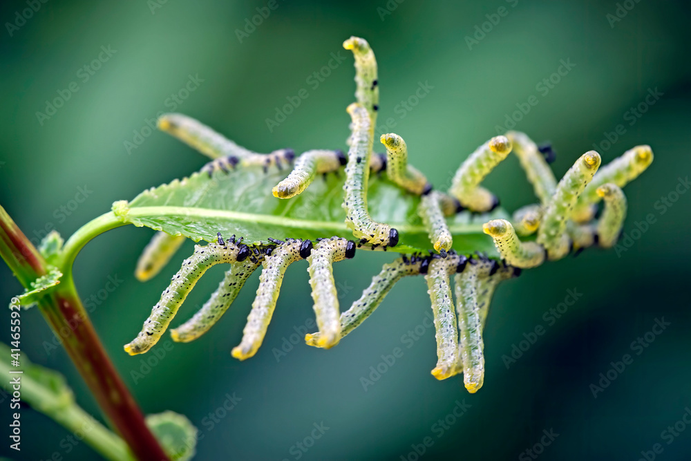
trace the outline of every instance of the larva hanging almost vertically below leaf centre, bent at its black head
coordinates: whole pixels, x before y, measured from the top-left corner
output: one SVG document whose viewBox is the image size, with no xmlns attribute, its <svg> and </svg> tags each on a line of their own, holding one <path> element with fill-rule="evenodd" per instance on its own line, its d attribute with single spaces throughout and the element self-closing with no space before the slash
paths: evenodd
<svg viewBox="0 0 691 461">
<path fill-rule="evenodd" d="M 352 258 L 355 244 L 345 238 L 329 238 L 314 245 L 312 254 L 307 258 L 310 266 L 310 286 L 314 300 L 314 314 L 319 328 L 319 339 L 316 347 L 332 348 L 341 341 L 341 313 L 339 311 L 339 294 L 334 281 L 333 263 Z M 305 336 L 310 341 L 310 335 Z"/>
</svg>

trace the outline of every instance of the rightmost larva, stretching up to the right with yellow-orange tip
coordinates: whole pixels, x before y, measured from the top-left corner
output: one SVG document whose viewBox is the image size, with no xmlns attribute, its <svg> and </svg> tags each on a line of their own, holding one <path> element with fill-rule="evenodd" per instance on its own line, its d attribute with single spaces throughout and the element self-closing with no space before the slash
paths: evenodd
<svg viewBox="0 0 691 461">
<path fill-rule="evenodd" d="M 650 146 L 636 146 L 600 168 L 589 185 L 583 190 L 583 194 L 580 194 L 580 197 L 578 197 L 578 202 L 572 213 L 574 220 L 583 222 L 592 218 L 594 209 L 589 207 L 589 205 L 598 203 L 601 200 L 601 197 L 598 195 L 598 187 L 611 182 L 623 188 L 629 182 L 638 178 L 638 175 L 643 173 L 647 167 L 650 167 L 653 158 Z"/>
</svg>

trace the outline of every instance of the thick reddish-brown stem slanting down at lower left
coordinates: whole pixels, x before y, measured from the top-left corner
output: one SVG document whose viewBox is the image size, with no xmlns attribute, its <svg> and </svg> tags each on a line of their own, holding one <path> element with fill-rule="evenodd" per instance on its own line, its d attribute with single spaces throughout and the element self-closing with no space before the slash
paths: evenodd
<svg viewBox="0 0 691 461">
<path fill-rule="evenodd" d="M 0 254 L 25 288 L 46 273 L 46 261 L 2 207 Z M 39 301 L 39 309 L 55 335 L 62 339 L 106 418 L 135 457 L 146 461 L 169 460 L 106 354 L 77 295 L 71 272 Z"/>
</svg>

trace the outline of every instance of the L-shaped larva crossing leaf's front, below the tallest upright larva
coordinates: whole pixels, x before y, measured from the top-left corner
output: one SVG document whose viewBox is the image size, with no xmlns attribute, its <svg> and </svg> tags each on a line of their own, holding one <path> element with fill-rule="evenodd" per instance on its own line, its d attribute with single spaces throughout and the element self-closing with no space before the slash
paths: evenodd
<svg viewBox="0 0 691 461">
<path fill-rule="evenodd" d="M 398 231 L 390 225 L 372 221 L 367 210 L 369 162 L 372 153 L 370 117 L 366 109 L 357 103 L 348 106 L 348 113 L 352 117 L 352 135 L 343 185 L 345 224 L 361 243 L 393 247 L 398 243 Z"/>
</svg>

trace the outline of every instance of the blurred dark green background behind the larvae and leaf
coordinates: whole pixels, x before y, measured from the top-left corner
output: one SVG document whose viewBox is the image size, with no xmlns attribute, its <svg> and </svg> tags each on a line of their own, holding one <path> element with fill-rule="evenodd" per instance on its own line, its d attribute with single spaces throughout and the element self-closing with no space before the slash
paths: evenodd
<svg viewBox="0 0 691 461">
<path fill-rule="evenodd" d="M 84 249 L 75 281 L 86 298 L 98 297 L 108 276 L 122 280 L 91 318 L 144 411 L 187 415 L 203 435 L 199 460 L 415 460 L 416 446 L 422 451 L 426 437 L 426 459 L 524 460 L 533 459 L 526 450 L 550 430 L 559 435 L 549 446 L 536 447 L 540 459 L 635 460 L 656 443 L 664 450 L 660 459 L 688 459 L 691 429 L 681 431 L 681 423 L 676 435 L 663 433 L 691 406 L 691 193 L 679 185 L 679 178 L 691 175 L 688 2 L 399 2 L 277 0 L 278 8 L 241 40 L 236 30 L 267 1 L 48 1 L 26 23 L 17 21 L 26 1 L 3 2 L 0 203 L 30 238 L 45 234 L 46 226 L 69 236 L 114 200 L 199 169 L 205 158 L 147 131 L 146 120 L 160 111 L 197 117 L 257 151 L 343 148 L 354 73 L 341 43 L 350 35 L 366 37 L 379 62 L 379 131 L 403 135 L 412 162 L 436 184 L 446 182 L 507 117 L 520 118 L 516 129 L 553 142 L 558 176 L 594 143 L 603 163 L 636 144 L 650 144 L 652 167 L 625 189 L 625 232 L 631 236 L 647 214 L 656 223 L 634 232 L 639 238 L 625 252 L 589 250 L 502 284 L 484 335 L 485 384 L 475 395 L 466 393 L 460 377 L 437 382 L 430 375 L 436 361 L 432 330 L 410 348 L 401 342 L 429 311 L 422 278 L 398 285 L 377 314 L 337 348 L 316 350 L 299 341 L 277 359 L 274 349 L 312 319 L 304 264 L 288 272 L 263 348 L 253 359 L 240 363 L 229 351 L 240 340 L 257 274 L 209 334 L 172 348 L 163 339 L 158 350 L 167 343 L 169 350 L 146 368 L 142 364 L 151 354 L 129 357 L 122 345 L 139 331 L 191 244 L 159 276 L 139 283 L 133 268 L 153 232 L 116 229 Z M 473 35 L 476 42 L 467 38 Z M 91 66 L 102 46 L 114 52 L 91 75 L 84 66 Z M 345 59 L 315 85 L 308 77 L 328 66 L 332 53 Z M 540 84 L 561 60 L 574 66 L 557 84 Z M 190 76 L 200 79 L 198 88 L 183 92 L 187 97 L 179 104 L 169 99 Z M 71 82 L 78 91 L 68 92 L 64 106 L 39 120 L 46 100 Z M 410 111 L 401 109 L 420 82 L 433 88 Z M 266 119 L 301 88 L 307 99 L 269 131 Z M 651 98 L 645 102 L 649 91 L 662 93 L 654 104 Z M 538 104 L 514 116 L 531 95 Z M 630 111 L 639 104 L 645 109 L 640 117 Z M 388 118 L 394 125 L 382 128 Z M 135 131 L 142 143 L 128 152 L 125 142 L 135 142 Z M 486 185 L 509 210 L 533 200 L 513 156 Z M 88 190 L 88 198 L 75 206 L 79 187 Z M 674 196 L 676 188 L 686 193 Z M 661 205 L 670 193 L 678 200 Z M 357 299 L 392 257 L 359 254 L 337 265 L 342 305 Z M 180 321 L 205 301 L 220 271 L 200 281 Z M 0 277 L 0 299 L 8 303 L 20 286 L 4 265 Z M 551 324 L 549 310 L 569 289 L 583 296 Z M 0 318 L 9 325 L 7 310 L 0 310 Z M 100 417 L 64 350 L 47 346 L 53 334 L 39 312 L 26 312 L 23 319 L 29 326 L 23 351 L 64 373 L 79 403 Z M 670 326 L 648 335 L 654 341 L 647 347 L 632 349 L 656 319 Z M 545 327 L 545 334 L 507 368 L 502 356 L 536 326 Z M 0 339 L 8 341 L 8 328 L 0 328 Z M 364 391 L 360 378 L 396 347 L 404 356 Z M 616 379 L 594 398 L 591 384 L 627 353 L 633 363 L 622 373 L 610 372 Z M 236 408 L 211 424 L 209 413 L 234 393 L 241 398 Z M 453 423 L 446 428 L 439 425 L 457 402 L 471 406 L 462 417 L 449 417 Z M 3 422 L 0 454 L 17 460 L 44 460 L 56 452 L 65 460 L 98 459 L 84 444 L 65 444 L 66 431 L 39 413 L 25 409 L 21 421 L 21 453 L 10 453 Z M 329 429 L 301 451 L 296 443 L 322 422 Z"/>
</svg>

